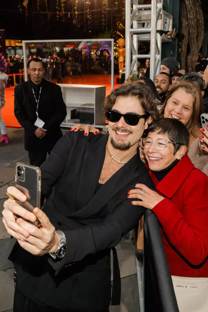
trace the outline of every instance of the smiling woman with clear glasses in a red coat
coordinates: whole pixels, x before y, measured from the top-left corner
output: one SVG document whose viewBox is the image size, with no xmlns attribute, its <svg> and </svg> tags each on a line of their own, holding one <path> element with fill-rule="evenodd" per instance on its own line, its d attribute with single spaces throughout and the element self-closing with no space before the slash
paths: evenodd
<svg viewBox="0 0 208 312">
<path fill-rule="evenodd" d="M 188 142 L 180 121 L 152 124 L 143 146 L 156 192 L 137 184 L 127 196 L 158 217 L 171 275 L 208 277 L 208 177 L 191 163 Z"/>
</svg>

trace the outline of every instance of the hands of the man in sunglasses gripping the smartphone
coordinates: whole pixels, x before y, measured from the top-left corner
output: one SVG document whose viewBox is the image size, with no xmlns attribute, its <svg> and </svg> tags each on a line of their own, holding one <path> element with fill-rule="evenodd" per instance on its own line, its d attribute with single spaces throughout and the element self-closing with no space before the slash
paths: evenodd
<svg viewBox="0 0 208 312">
<path fill-rule="evenodd" d="M 10 186 L 7 188 L 7 192 L 15 197 L 18 202 L 27 202 L 28 198 L 17 188 Z M 30 208 L 30 205 L 28 207 Z M 43 211 L 36 208 L 33 212 L 27 211 L 15 200 L 7 199 L 2 211 L 2 221 L 7 233 L 15 237 L 19 245 L 33 255 L 42 256 L 54 252 L 59 246 L 59 236 L 55 232 L 55 227 Z M 15 214 L 19 215 L 20 218 L 16 220 Z M 34 222 L 37 218 L 41 222 L 40 228 L 28 223 L 28 220 Z"/>
</svg>

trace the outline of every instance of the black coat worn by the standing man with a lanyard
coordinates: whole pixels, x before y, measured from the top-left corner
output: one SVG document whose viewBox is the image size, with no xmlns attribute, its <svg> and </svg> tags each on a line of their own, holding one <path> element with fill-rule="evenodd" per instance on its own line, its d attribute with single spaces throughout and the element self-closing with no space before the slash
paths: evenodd
<svg viewBox="0 0 208 312">
<path fill-rule="evenodd" d="M 42 80 L 42 90 L 38 105 L 38 117 L 45 122 L 47 129 L 42 139 L 34 134 L 37 103 L 35 101 L 30 81 L 17 85 L 14 89 L 14 115 L 25 130 L 25 149 L 29 152 L 51 151 L 62 137 L 60 124 L 67 115 L 60 86 Z"/>
</svg>

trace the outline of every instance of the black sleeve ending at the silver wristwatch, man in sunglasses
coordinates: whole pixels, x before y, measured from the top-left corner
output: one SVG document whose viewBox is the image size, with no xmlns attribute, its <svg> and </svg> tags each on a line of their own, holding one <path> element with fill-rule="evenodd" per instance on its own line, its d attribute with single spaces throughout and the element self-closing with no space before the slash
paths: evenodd
<svg viewBox="0 0 208 312">
<path fill-rule="evenodd" d="M 118 245 L 123 235 L 138 226 L 144 212 L 144 207 L 133 206 L 131 200 L 126 199 L 100 222 L 64 230 L 67 240 L 66 254 L 60 262 L 49 258 L 49 263 L 57 274 L 64 266 L 80 261 L 89 254 Z"/>
</svg>

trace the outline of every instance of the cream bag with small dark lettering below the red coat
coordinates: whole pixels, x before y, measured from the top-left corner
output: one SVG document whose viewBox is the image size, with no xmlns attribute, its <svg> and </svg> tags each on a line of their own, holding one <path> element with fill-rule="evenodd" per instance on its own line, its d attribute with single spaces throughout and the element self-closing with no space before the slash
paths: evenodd
<svg viewBox="0 0 208 312">
<path fill-rule="evenodd" d="M 172 275 L 180 312 L 208 312 L 208 278 Z"/>
</svg>

